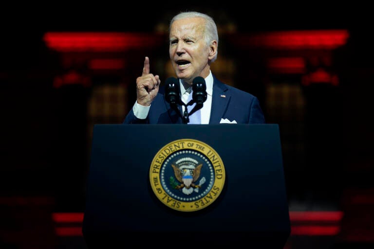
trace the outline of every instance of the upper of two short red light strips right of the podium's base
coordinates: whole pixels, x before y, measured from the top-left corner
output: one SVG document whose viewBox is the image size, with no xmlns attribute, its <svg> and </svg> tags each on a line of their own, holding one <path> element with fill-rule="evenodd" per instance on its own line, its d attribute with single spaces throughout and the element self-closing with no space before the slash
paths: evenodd
<svg viewBox="0 0 374 249">
<path fill-rule="evenodd" d="M 290 211 L 292 221 L 336 221 L 343 217 L 341 211 Z"/>
</svg>

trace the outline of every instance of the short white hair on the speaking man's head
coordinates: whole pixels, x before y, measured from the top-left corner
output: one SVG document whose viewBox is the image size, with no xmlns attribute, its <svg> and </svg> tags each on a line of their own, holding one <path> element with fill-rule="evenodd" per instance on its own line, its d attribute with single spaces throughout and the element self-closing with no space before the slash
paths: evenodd
<svg viewBox="0 0 374 249">
<path fill-rule="evenodd" d="M 171 24 L 176 20 L 180 20 L 184 18 L 204 18 L 205 20 L 204 39 L 206 42 L 206 46 L 209 46 L 210 42 L 213 40 L 217 41 L 217 53 L 214 56 L 214 58 L 211 60 L 211 62 L 214 62 L 217 59 L 217 55 L 218 55 L 218 31 L 217 31 L 217 25 L 214 22 L 213 18 L 211 18 L 210 16 L 206 14 L 196 12 L 196 11 L 181 12 L 171 19 L 170 25 L 169 25 L 169 34 L 170 34 Z"/>
</svg>

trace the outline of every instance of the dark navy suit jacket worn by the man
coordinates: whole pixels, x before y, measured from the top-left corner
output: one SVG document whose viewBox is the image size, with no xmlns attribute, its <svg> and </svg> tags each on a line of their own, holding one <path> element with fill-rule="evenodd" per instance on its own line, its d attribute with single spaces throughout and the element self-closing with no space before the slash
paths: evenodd
<svg viewBox="0 0 374 249">
<path fill-rule="evenodd" d="M 146 119 L 134 116 L 132 107 L 124 124 L 182 124 L 180 114 L 172 109 L 164 97 L 164 87 L 150 105 Z M 223 97 L 225 96 L 225 97 Z M 180 113 L 182 108 L 180 107 Z M 236 121 L 237 124 L 264 124 L 265 118 L 259 100 L 252 94 L 231 87 L 213 75 L 212 108 L 209 124 L 220 124 L 221 119 Z"/>
</svg>

